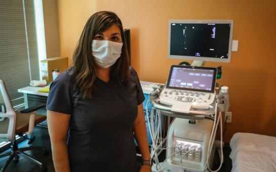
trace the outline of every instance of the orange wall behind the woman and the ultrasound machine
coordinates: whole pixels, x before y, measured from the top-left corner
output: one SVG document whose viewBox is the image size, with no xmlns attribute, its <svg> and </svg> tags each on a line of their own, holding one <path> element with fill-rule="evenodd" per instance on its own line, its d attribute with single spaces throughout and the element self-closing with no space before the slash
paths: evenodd
<svg viewBox="0 0 276 172">
<path fill-rule="evenodd" d="M 132 66 L 140 79 L 164 83 L 170 66 L 181 61 L 167 58 L 169 19 L 232 19 L 238 52 L 232 53 L 230 63 L 205 64 L 222 65 L 218 82 L 231 92 L 233 117 L 224 140 L 229 142 L 236 132 L 276 136 L 275 6 L 274 0 L 59 0 L 61 56 L 72 57 L 88 17 L 100 10 L 114 11 L 131 30 Z"/>
</svg>

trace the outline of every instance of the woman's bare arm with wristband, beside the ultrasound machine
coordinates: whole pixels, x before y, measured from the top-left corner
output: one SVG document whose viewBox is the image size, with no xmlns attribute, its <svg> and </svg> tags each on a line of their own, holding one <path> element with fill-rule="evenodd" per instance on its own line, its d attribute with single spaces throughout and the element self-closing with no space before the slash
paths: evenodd
<svg viewBox="0 0 276 172">
<path fill-rule="evenodd" d="M 149 151 L 149 143 L 147 137 L 147 128 L 144 115 L 143 103 L 138 105 L 138 112 L 135 121 L 133 122 L 134 135 L 138 143 L 139 150 L 142 154 L 143 160 L 150 160 L 151 155 Z M 143 165 L 144 166 L 144 165 Z M 143 167 L 142 168 L 145 168 Z M 150 165 L 146 165 L 148 169 L 151 169 Z"/>
</svg>

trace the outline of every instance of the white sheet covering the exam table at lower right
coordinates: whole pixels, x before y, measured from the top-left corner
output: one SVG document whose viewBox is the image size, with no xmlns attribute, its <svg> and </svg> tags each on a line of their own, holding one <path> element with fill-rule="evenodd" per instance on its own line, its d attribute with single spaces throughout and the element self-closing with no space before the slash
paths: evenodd
<svg viewBox="0 0 276 172">
<path fill-rule="evenodd" d="M 231 171 L 276 171 L 276 137 L 236 133 L 230 147 Z"/>
</svg>

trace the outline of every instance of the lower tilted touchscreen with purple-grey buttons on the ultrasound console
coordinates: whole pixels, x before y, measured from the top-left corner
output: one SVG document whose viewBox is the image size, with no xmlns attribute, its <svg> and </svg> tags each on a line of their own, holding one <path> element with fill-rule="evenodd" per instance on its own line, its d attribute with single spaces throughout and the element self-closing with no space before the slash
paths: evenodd
<svg viewBox="0 0 276 172">
<path fill-rule="evenodd" d="M 172 65 L 166 87 L 214 93 L 217 68 Z"/>
</svg>

